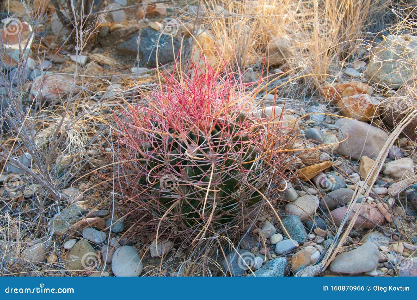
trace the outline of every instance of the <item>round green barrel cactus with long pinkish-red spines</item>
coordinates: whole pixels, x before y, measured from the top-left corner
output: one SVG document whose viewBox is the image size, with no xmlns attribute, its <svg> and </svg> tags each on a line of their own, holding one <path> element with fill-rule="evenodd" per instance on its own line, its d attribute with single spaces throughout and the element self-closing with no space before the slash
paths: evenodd
<svg viewBox="0 0 417 300">
<path fill-rule="evenodd" d="M 285 144 L 284 131 L 254 117 L 253 94 L 234 74 L 161 76 L 141 104 L 117 114 L 123 193 L 158 225 L 226 228 L 261 207 L 277 172 L 284 177 L 286 156 L 274 146 Z"/>
</svg>

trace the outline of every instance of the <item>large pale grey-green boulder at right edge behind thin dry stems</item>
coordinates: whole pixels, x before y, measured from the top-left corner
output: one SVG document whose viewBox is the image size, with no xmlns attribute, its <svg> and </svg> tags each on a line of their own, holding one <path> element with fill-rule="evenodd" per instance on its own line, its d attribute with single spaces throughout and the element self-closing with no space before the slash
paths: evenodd
<svg viewBox="0 0 417 300">
<path fill-rule="evenodd" d="M 393 89 L 401 87 L 414 76 L 413 64 L 417 60 L 417 37 L 388 35 L 374 47 L 365 72 L 376 84 Z"/>
</svg>

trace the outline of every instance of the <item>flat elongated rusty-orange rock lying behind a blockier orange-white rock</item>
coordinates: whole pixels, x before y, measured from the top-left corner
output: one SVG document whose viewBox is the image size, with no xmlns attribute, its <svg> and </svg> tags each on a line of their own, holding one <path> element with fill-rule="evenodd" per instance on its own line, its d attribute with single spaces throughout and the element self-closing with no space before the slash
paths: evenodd
<svg viewBox="0 0 417 300">
<path fill-rule="evenodd" d="M 320 87 L 320 95 L 322 96 L 322 98 L 331 100 L 334 103 L 336 103 L 344 97 L 351 97 L 354 95 L 362 94 L 371 95 L 372 92 L 372 87 L 359 81 L 326 84 Z"/>
</svg>

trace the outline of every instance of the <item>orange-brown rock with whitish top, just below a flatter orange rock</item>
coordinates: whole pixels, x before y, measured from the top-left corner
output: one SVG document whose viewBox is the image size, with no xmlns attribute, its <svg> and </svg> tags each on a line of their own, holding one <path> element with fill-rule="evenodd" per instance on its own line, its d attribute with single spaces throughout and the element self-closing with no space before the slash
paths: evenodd
<svg viewBox="0 0 417 300">
<path fill-rule="evenodd" d="M 362 94 L 342 98 L 337 102 L 337 107 L 344 117 L 371 121 L 379 103 L 379 100 L 369 94 Z"/>
</svg>

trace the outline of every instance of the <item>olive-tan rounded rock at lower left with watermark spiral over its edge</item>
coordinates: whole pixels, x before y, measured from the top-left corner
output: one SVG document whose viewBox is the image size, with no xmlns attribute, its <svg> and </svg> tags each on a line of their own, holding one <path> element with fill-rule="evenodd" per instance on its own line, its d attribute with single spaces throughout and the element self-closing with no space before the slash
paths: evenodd
<svg viewBox="0 0 417 300">
<path fill-rule="evenodd" d="M 79 240 L 68 252 L 67 268 L 69 270 L 84 270 L 91 263 L 97 262 L 94 248 L 86 240 Z"/>
</svg>

